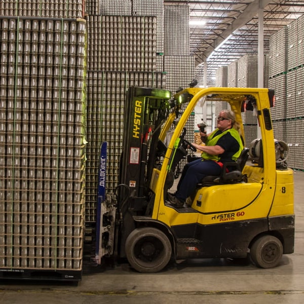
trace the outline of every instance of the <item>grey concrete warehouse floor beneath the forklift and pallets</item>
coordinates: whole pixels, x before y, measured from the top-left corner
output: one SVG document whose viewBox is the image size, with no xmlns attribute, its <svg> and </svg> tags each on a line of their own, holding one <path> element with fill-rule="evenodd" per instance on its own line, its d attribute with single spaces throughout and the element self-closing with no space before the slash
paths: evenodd
<svg viewBox="0 0 304 304">
<path fill-rule="evenodd" d="M 85 267 L 78 284 L 0 281 L 0 303 L 284 303 L 304 302 L 304 172 L 294 172 L 295 251 L 274 269 L 247 261 L 208 259 L 140 274 L 128 264 Z"/>
</svg>

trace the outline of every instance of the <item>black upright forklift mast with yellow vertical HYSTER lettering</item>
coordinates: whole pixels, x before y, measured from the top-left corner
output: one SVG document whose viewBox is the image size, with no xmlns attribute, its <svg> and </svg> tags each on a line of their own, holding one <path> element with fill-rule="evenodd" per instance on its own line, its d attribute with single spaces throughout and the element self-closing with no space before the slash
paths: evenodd
<svg viewBox="0 0 304 304">
<path fill-rule="evenodd" d="M 134 229 L 134 215 L 144 215 L 149 201 L 149 181 L 163 123 L 169 116 L 171 92 L 130 87 L 125 104 L 123 151 L 120 159 L 118 214 L 120 256 Z"/>
</svg>

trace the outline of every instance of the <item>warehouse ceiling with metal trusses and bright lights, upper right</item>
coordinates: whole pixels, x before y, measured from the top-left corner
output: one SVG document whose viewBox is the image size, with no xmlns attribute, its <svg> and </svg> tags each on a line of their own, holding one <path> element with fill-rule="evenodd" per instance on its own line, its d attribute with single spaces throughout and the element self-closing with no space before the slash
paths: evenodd
<svg viewBox="0 0 304 304">
<path fill-rule="evenodd" d="M 220 66 L 258 52 L 259 12 L 264 20 L 264 53 L 269 53 L 271 35 L 304 14 L 304 0 L 165 0 L 164 4 L 188 5 L 190 21 L 205 21 L 203 25 L 189 25 L 189 46 L 199 84 L 203 84 L 207 62 L 207 86 L 213 85 Z"/>
</svg>

